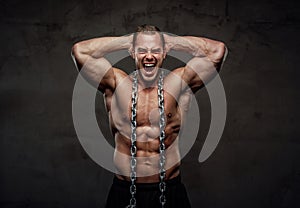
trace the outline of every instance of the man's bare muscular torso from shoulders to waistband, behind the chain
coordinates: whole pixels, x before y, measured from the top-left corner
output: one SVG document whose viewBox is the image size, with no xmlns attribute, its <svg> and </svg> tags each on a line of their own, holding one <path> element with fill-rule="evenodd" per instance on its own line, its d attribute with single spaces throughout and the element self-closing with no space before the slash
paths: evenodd
<svg viewBox="0 0 300 208">
<path fill-rule="evenodd" d="M 124 74 L 116 74 L 116 76 L 116 89 L 114 92 L 105 93 L 105 101 L 115 138 L 114 162 L 119 173 L 117 177 L 129 180 L 132 79 Z M 166 179 L 174 178 L 179 174 L 178 134 L 190 99 L 188 91 L 180 93 L 181 81 L 175 79 L 169 74 L 164 80 Z M 138 87 L 136 156 L 137 182 L 141 183 L 159 181 L 160 114 L 157 89 L 157 86 Z"/>
</svg>

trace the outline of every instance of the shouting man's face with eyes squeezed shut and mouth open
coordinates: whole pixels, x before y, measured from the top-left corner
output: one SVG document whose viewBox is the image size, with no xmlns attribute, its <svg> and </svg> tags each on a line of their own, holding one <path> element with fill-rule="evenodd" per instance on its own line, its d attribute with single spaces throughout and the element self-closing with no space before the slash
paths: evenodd
<svg viewBox="0 0 300 208">
<path fill-rule="evenodd" d="M 165 56 L 159 33 L 140 33 L 137 35 L 133 58 L 144 81 L 152 82 L 156 79 Z"/>
</svg>

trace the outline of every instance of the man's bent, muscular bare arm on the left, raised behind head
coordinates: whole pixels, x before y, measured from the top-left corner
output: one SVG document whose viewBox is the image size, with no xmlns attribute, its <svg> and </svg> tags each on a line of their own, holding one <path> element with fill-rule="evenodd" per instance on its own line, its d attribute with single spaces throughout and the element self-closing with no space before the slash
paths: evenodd
<svg viewBox="0 0 300 208">
<path fill-rule="evenodd" d="M 93 86 L 102 92 L 115 89 L 115 71 L 104 55 L 113 51 L 130 49 L 132 36 L 102 37 L 76 43 L 72 57 L 78 70 Z"/>
</svg>

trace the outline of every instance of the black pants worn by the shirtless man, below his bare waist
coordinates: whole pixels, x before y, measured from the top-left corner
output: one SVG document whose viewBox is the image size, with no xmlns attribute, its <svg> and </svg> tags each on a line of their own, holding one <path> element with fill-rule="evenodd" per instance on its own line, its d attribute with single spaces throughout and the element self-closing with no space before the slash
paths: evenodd
<svg viewBox="0 0 300 208">
<path fill-rule="evenodd" d="M 131 182 L 114 177 L 113 184 L 108 194 L 106 208 L 125 208 L 131 198 L 129 188 Z M 159 183 L 137 183 L 136 202 L 137 208 L 160 208 Z M 190 202 L 180 176 L 166 180 L 165 208 L 190 208 Z"/>
</svg>

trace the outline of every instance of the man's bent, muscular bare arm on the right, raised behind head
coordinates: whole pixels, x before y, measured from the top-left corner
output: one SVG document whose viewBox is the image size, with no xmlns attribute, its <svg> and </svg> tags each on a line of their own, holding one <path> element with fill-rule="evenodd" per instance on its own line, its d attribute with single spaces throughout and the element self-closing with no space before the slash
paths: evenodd
<svg viewBox="0 0 300 208">
<path fill-rule="evenodd" d="M 220 71 L 227 55 L 224 43 L 202 37 L 169 36 L 165 37 L 166 50 L 183 51 L 193 55 L 193 58 L 183 68 L 182 79 L 193 92 L 208 83 Z"/>
</svg>

